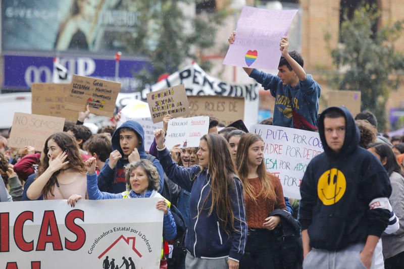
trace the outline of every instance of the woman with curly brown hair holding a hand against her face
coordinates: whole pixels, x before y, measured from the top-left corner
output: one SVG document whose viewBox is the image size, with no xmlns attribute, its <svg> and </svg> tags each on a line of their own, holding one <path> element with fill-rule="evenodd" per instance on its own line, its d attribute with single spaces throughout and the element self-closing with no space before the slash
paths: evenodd
<svg viewBox="0 0 404 269">
<path fill-rule="evenodd" d="M 74 137 L 53 134 L 46 139 L 38 177 L 29 186 L 27 196 L 31 200 L 41 195 L 44 200 L 68 199 L 74 205 L 87 196 L 86 172 Z"/>
</svg>

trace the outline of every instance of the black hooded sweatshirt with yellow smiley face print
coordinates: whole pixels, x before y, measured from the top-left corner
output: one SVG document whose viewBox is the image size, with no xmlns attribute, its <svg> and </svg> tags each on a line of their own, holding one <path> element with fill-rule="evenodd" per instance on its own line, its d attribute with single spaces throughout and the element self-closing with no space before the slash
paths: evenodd
<svg viewBox="0 0 404 269">
<path fill-rule="evenodd" d="M 324 115 L 330 109 L 340 110 L 345 117 L 345 138 L 338 153 L 325 139 Z M 384 201 L 391 194 L 386 170 L 358 145 L 359 129 L 345 107 L 325 110 L 318 127 L 324 152 L 312 159 L 300 186 L 298 219 L 301 229 L 308 229 L 310 246 L 336 251 L 365 243 L 368 235 L 380 237 L 389 211 L 377 206 L 370 209 L 370 203 L 376 198 Z"/>
</svg>

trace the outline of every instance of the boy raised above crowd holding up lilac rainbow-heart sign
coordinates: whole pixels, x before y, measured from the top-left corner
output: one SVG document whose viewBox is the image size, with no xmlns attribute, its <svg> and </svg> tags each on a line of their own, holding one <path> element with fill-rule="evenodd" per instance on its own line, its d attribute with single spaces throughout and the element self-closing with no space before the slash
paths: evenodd
<svg viewBox="0 0 404 269">
<path fill-rule="evenodd" d="M 235 31 L 230 34 L 230 44 L 235 35 Z M 277 76 L 253 68 L 243 69 L 275 97 L 273 125 L 314 131 L 317 130 L 321 87 L 312 75 L 306 74 L 300 53 L 288 52 L 288 48 L 288 38 L 284 36 L 280 41 L 282 56 Z"/>
</svg>

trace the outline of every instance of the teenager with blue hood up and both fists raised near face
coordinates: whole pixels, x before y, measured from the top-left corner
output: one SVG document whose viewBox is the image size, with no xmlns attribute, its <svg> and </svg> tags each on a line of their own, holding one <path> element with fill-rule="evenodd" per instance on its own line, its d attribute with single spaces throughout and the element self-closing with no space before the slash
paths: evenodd
<svg viewBox="0 0 404 269">
<path fill-rule="evenodd" d="M 112 135 L 112 152 L 97 177 L 100 191 L 121 193 L 126 190 L 125 166 L 139 159 L 146 159 L 144 151 L 143 127 L 135 121 L 124 122 Z M 160 175 L 160 189 L 164 186 L 164 171 L 159 160 L 153 160 L 153 165 Z"/>
</svg>

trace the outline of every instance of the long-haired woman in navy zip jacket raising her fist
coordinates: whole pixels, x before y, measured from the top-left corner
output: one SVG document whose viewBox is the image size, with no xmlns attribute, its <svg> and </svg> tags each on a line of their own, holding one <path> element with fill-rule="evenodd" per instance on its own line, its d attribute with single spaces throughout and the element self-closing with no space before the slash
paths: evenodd
<svg viewBox="0 0 404 269">
<path fill-rule="evenodd" d="M 242 184 L 236 176 L 226 139 L 207 134 L 200 139 L 198 166 L 179 167 L 155 131 L 160 163 L 167 176 L 189 191 L 185 236 L 186 268 L 238 268 L 244 252 L 246 223 Z"/>
</svg>

